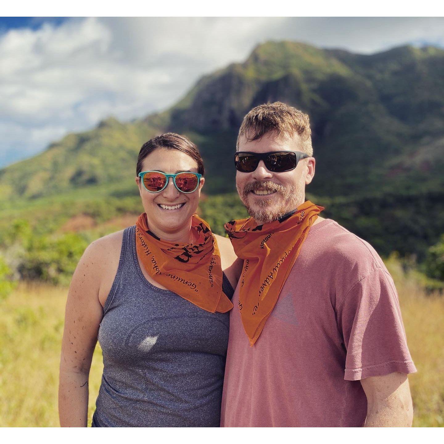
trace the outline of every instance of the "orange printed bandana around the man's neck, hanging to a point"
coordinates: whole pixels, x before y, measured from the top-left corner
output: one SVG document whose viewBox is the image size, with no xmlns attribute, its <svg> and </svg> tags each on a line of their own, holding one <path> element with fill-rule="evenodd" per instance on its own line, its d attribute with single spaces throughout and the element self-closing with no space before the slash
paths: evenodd
<svg viewBox="0 0 444 444">
<path fill-rule="evenodd" d="M 306 201 L 280 219 L 258 225 L 253 218 L 227 222 L 236 255 L 244 259 L 239 310 L 253 346 L 264 328 L 310 226 L 323 207 Z"/>
</svg>

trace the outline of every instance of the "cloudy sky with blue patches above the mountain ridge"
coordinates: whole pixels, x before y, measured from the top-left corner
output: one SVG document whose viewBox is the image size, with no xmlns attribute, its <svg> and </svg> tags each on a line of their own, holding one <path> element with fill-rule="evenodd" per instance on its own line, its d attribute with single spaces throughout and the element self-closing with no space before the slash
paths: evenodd
<svg viewBox="0 0 444 444">
<path fill-rule="evenodd" d="M 370 54 L 444 47 L 444 18 L 0 18 L 0 168 L 71 131 L 163 110 L 266 40 Z"/>
</svg>

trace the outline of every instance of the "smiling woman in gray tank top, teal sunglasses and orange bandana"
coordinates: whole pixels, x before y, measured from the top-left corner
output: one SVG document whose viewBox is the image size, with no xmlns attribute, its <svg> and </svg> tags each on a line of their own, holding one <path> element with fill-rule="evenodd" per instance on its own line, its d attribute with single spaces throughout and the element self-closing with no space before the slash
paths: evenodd
<svg viewBox="0 0 444 444">
<path fill-rule="evenodd" d="M 141 148 L 136 183 L 145 213 L 88 246 L 71 281 L 62 426 L 87 426 L 97 338 L 104 369 L 93 427 L 219 426 L 240 270 L 230 241 L 195 215 L 203 174 L 185 137 L 168 133 Z"/>
</svg>

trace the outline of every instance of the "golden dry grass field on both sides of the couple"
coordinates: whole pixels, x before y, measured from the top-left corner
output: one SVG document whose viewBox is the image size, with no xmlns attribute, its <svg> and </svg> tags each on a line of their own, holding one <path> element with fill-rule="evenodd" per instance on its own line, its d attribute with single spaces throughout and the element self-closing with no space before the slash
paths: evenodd
<svg viewBox="0 0 444 444">
<path fill-rule="evenodd" d="M 414 274 L 387 261 L 395 280 L 408 345 L 416 427 L 444 426 L 444 297 L 427 296 Z M 19 285 L 0 301 L 0 426 L 57 427 L 60 344 L 67 289 Z M 102 373 L 96 347 L 89 382 L 88 424 Z"/>
</svg>

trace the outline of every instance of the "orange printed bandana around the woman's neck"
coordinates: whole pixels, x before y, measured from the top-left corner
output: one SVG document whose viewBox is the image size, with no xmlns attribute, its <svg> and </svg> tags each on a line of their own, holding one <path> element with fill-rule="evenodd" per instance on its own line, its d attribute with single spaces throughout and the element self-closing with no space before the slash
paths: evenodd
<svg viewBox="0 0 444 444">
<path fill-rule="evenodd" d="M 198 242 L 171 243 L 159 239 L 148 228 L 147 214 L 136 222 L 136 250 L 150 276 L 194 305 L 215 313 L 233 308 L 222 292 L 221 257 L 208 224 L 193 214 L 191 230 Z"/>
</svg>

